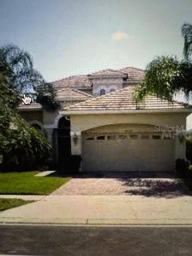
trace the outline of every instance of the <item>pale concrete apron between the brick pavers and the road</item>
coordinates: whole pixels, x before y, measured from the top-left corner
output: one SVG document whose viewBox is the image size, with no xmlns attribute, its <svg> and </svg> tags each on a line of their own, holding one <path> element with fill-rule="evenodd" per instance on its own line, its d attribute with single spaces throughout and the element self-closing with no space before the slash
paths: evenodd
<svg viewBox="0 0 192 256">
<path fill-rule="evenodd" d="M 0 212 L 1 223 L 192 225 L 192 197 L 45 196 Z"/>
</svg>

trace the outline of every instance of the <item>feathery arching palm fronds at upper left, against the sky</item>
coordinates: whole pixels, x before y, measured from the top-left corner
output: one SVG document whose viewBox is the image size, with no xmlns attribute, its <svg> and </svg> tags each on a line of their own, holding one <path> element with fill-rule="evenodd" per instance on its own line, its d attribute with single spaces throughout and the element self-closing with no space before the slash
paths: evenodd
<svg viewBox="0 0 192 256">
<path fill-rule="evenodd" d="M 24 90 L 32 88 L 34 98 L 46 110 L 56 110 L 59 103 L 55 100 L 55 90 L 52 84 L 46 83 L 42 75 L 33 68 L 32 57 L 15 45 L 0 48 L 0 72 L 9 80 L 11 90 L 21 98 Z M 16 100 L 16 108 L 19 101 Z"/>
</svg>

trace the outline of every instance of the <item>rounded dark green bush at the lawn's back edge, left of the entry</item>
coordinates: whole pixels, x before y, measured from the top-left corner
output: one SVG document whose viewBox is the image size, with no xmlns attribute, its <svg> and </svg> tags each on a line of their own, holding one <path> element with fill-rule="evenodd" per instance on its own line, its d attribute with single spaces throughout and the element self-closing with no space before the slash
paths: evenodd
<svg viewBox="0 0 192 256">
<path fill-rule="evenodd" d="M 4 170 L 32 170 L 50 156 L 51 145 L 46 134 L 31 127 L 17 113 L 10 125 L 0 132 L 0 154 Z"/>
</svg>

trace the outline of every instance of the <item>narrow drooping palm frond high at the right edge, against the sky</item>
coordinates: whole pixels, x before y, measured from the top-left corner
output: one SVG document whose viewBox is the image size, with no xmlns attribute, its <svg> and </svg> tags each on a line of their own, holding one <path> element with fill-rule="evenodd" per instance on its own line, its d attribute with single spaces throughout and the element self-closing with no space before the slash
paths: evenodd
<svg viewBox="0 0 192 256">
<path fill-rule="evenodd" d="M 192 24 L 184 23 L 181 28 L 181 32 L 184 38 L 184 58 L 189 60 L 192 55 Z"/>
</svg>

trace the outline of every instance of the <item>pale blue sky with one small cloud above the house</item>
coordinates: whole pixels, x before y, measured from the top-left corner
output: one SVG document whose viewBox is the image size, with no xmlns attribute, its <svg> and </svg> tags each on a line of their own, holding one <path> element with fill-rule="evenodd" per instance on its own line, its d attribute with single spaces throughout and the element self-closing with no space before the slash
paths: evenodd
<svg viewBox="0 0 192 256">
<path fill-rule="evenodd" d="M 192 0 L 0 0 L 0 45 L 28 50 L 48 81 L 182 58 Z"/>
</svg>

